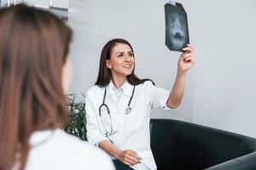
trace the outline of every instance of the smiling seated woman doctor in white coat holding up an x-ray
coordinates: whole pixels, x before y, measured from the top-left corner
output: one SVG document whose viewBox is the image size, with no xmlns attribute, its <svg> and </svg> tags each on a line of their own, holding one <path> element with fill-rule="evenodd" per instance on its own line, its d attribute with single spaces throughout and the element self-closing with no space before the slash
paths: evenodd
<svg viewBox="0 0 256 170">
<path fill-rule="evenodd" d="M 149 120 L 153 107 L 177 108 L 184 93 L 186 72 L 195 64 L 193 48 L 183 48 L 171 91 L 157 88 L 134 74 L 131 44 L 113 39 L 103 48 L 95 86 L 86 93 L 86 128 L 91 144 L 113 156 L 119 169 L 156 169 L 150 149 Z"/>
</svg>

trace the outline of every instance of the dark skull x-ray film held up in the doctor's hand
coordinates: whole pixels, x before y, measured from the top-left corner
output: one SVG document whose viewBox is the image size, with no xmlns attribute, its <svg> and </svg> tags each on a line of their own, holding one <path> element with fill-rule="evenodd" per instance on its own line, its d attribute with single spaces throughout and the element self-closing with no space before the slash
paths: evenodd
<svg viewBox="0 0 256 170">
<path fill-rule="evenodd" d="M 188 18 L 181 3 L 169 2 L 165 5 L 166 46 L 172 51 L 183 51 L 189 43 Z"/>
</svg>

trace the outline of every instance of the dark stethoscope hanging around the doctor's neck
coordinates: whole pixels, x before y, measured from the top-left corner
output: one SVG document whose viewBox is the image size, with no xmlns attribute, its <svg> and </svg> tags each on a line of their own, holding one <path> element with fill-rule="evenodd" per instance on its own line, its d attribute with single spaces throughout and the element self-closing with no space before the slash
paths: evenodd
<svg viewBox="0 0 256 170">
<path fill-rule="evenodd" d="M 129 100 L 129 103 L 128 103 L 128 105 L 127 105 L 127 108 L 125 109 L 125 115 L 128 115 L 128 114 L 131 112 L 131 100 L 132 100 L 132 98 L 133 98 L 133 96 L 134 96 L 134 91 L 135 91 L 135 85 L 133 86 L 131 98 L 130 98 L 130 100 Z M 104 123 L 102 123 L 102 126 L 105 128 L 105 130 L 106 130 L 105 136 L 108 138 L 109 136 L 113 135 L 113 134 L 116 133 L 116 132 L 113 132 L 113 121 L 112 121 L 112 118 L 111 118 L 111 114 L 110 114 L 108 105 L 105 104 L 106 94 L 107 94 L 107 88 L 105 87 L 102 105 L 100 105 L 100 107 L 99 107 L 99 116 L 100 116 L 100 119 L 101 119 L 101 122 L 102 122 L 102 109 L 105 107 L 105 109 L 107 110 L 107 113 L 108 113 L 109 120 L 110 120 L 110 126 L 111 126 L 111 127 L 110 127 L 110 132 L 109 132 L 109 133 L 107 132 L 107 128 L 104 126 Z M 108 139 L 109 139 L 109 138 L 108 138 Z M 109 139 L 109 140 L 110 140 L 110 139 Z M 110 140 L 110 141 L 111 141 L 111 140 Z M 112 141 L 111 141 L 111 142 L 112 142 Z M 113 142 L 112 142 L 112 143 L 113 143 Z"/>
</svg>

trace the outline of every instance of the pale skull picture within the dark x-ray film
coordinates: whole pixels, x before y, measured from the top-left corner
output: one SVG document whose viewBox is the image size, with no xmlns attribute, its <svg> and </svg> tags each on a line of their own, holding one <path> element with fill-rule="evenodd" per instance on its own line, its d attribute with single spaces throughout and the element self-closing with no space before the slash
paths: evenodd
<svg viewBox="0 0 256 170">
<path fill-rule="evenodd" d="M 180 49 L 188 41 L 186 20 L 182 14 L 169 14 L 167 21 L 168 37 L 173 49 Z"/>
</svg>

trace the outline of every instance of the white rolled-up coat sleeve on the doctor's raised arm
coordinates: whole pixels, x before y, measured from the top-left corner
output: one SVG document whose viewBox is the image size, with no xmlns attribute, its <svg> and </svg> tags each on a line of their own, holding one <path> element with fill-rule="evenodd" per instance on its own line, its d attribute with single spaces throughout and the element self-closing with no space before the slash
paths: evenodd
<svg viewBox="0 0 256 170">
<path fill-rule="evenodd" d="M 175 110 L 179 107 L 178 106 L 177 108 L 170 108 L 166 105 L 167 99 L 169 98 L 171 91 L 166 90 L 165 88 L 157 88 L 151 83 L 148 94 L 150 94 L 149 96 L 151 97 L 152 108 L 161 108 L 164 110 Z"/>
</svg>

